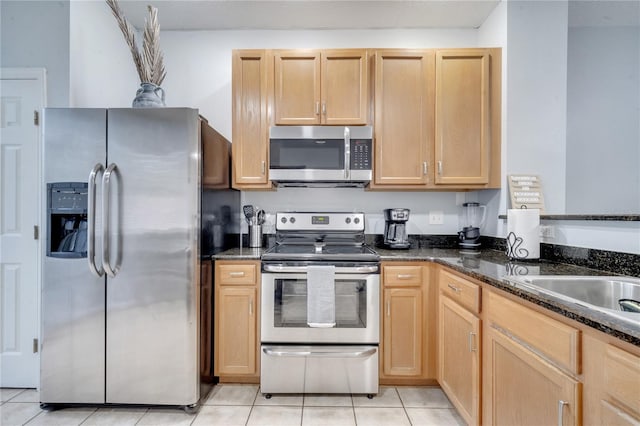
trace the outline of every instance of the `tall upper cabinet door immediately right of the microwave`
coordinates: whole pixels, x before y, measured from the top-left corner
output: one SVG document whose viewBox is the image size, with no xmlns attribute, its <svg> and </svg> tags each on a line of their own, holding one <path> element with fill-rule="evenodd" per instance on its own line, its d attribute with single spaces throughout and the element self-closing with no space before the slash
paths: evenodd
<svg viewBox="0 0 640 426">
<path fill-rule="evenodd" d="M 433 63 L 431 51 L 376 52 L 373 187 L 428 183 Z"/>
</svg>

